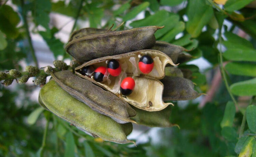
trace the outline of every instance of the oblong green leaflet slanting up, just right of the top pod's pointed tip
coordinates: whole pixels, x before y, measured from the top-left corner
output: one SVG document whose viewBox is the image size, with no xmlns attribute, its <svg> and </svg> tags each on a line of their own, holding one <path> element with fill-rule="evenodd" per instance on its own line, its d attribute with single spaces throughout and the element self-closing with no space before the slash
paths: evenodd
<svg viewBox="0 0 256 157">
<path fill-rule="evenodd" d="M 173 29 L 171 29 L 166 35 L 164 35 L 159 40 L 170 42 L 175 38 L 177 34 L 182 32 L 184 29 L 185 29 L 185 23 L 180 21 L 179 23 L 177 23 L 177 25 Z"/>
</svg>

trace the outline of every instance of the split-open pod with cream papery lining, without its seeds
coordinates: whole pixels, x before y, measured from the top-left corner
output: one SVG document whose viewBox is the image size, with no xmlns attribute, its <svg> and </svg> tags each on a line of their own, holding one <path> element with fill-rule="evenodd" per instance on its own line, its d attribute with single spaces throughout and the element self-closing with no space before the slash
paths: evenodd
<svg viewBox="0 0 256 157">
<path fill-rule="evenodd" d="M 141 73 L 138 67 L 139 57 L 144 55 L 149 55 L 154 60 L 154 68 L 148 74 Z M 96 82 L 90 77 L 90 75 L 81 74 L 81 70 L 84 67 L 92 66 L 95 69 L 101 66 L 106 67 L 106 62 L 110 59 L 117 60 L 121 66 L 122 72 L 118 76 L 114 77 L 109 75 L 105 82 Z M 172 104 L 164 103 L 162 101 L 163 84 L 157 80 L 165 76 L 165 66 L 168 63 L 176 66 L 166 54 L 156 50 L 145 49 L 88 61 L 75 68 L 75 73 L 78 76 L 112 92 L 117 97 L 127 101 L 139 109 L 146 111 L 160 111 L 166 108 L 169 104 Z M 135 87 L 131 95 L 124 96 L 120 93 L 120 83 L 127 76 L 134 79 Z"/>
</svg>

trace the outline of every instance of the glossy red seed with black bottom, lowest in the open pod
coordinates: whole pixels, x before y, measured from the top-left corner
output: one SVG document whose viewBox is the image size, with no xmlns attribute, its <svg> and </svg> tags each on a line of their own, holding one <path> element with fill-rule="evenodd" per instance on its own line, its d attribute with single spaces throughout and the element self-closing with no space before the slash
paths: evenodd
<svg viewBox="0 0 256 157">
<path fill-rule="evenodd" d="M 135 87 L 135 81 L 131 77 L 126 77 L 120 87 L 120 91 L 124 96 L 128 96 L 132 93 L 132 90 Z"/>
</svg>

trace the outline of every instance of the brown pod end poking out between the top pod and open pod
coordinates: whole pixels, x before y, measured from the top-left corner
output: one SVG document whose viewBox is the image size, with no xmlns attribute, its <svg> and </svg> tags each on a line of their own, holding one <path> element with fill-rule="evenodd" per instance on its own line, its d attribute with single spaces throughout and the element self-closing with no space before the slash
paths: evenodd
<svg viewBox="0 0 256 157">
<path fill-rule="evenodd" d="M 155 45 L 150 49 L 155 49 L 165 53 L 172 59 L 174 63 L 177 62 L 179 55 L 181 55 L 183 51 L 188 51 L 182 46 L 173 45 L 165 41 L 156 41 Z"/>
</svg>

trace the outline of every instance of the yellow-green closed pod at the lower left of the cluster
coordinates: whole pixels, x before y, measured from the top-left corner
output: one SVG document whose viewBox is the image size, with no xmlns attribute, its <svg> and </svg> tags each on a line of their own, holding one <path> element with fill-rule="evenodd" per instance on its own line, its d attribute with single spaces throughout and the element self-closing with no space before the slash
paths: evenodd
<svg viewBox="0 0 256 157">
<path fill-rule="evenodd" d="M 82 130 L 96 134 L 105 141 L 134 143 L 126 137 L 132 131 L 131 123 L 119 124 L 108 116 L 94 112 L 69 95 L 54 80 L 42 87 L 39 96 L 49 111 Z"/>
</svg>

